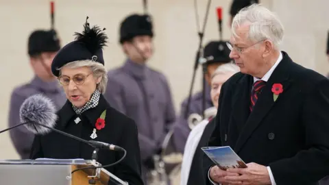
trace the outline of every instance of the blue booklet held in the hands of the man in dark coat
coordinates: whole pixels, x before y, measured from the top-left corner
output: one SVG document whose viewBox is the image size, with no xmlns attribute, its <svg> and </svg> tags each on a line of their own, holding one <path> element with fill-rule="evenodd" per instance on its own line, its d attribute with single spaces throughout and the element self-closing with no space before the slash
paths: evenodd
<svg viewBox="0 0 329 185">
<path fill-rule="evenodd" d="M 202 147 L 204 153 L 214 162 L 219 169 L 229 168 L 247 168 L 247 165 L 232 150 L 230 146 L 226 147 Z"/>
</svg>

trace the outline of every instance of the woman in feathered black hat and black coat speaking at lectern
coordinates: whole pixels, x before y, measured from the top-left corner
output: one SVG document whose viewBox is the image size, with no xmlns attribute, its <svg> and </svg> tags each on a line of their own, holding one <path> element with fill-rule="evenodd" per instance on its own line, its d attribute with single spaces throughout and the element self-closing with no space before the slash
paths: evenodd
<svg viewBox="0 0 329 185">
<path fill-rule="evenodd" d="M 90 28 L 87 22 L 84 32 L 75 36 L 51 64 L 52 73 L 58 77 L 67 98 L 57 113 L 56 129 L 85 140 L 122 147 L 127 151 L 125 158 L 106 170 L 129 184 L 143 184 L 136 124 L 112 108 L 103 97 L 107 75 L 102 47 L 106 46 L 107 36 L 96 26 Z M 93 150 L 90 145 L 50 132 L 36 136 L 30 158 L 88 160 Z M 97 162 L 112 164 L 122 156 L 120 151 L 99 150 Z"/>
</svg>

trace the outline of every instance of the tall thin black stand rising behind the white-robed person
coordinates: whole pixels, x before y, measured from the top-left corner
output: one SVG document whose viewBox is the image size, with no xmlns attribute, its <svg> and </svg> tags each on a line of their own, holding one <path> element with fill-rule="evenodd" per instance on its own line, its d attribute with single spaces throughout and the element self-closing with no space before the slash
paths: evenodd
<svg viewBox="0 0 329 185">
<path fill-rule="evenodd" d="M 202 32 L 198 32 L 199 47 L 198 47 L 198 50 L 197 50 L 197 56 L 195 58 L 191 86 L 190 86 L 190 90 L 188 92 L 188 100 L 187 100 L 186 110 L 185 110 L 185 114 L 184 114 L 185 119 L 188 118 L 188 110 L 190 109 L 191 96 L 192 96 L 193 86 L 194 86 L 194 82 L 195 82 L 195 73 L 197 72 L 197 67 L 199 66 L 199 63 L 204 62 L 202 41 L 203 41 L 203 38 L 204 38 L 204 30 L 206 29 L 206 23 L 207 23 L 207 20 L 208 20 L 210 2 L 211 2 L 211 0 L 208 0 L 207 9 L 206 9 L 206 16 L 204 17 L 204 25 L 202 27 Z M 196 11 L 196 14 L 197 14 L 196 0 L 195 0 L 195 11 Z M 198 17 L 196 16 L 196 18 L 197 18 L 197 27 L 199 28 Z M 202 89 L 202 114 L 203 115 L 204 115 L 204 110 L 206 110 L 206 95 L 205 95 L 206 79 L 204 77 L 206 72 L 205 72 L 204 68 L 206 68 L 206 67 L 204 66 L 203 70 L 202 70 L 203 71 L 203 83 L 202 83 L 203 84 L 203 89 Z"/>
</svg>

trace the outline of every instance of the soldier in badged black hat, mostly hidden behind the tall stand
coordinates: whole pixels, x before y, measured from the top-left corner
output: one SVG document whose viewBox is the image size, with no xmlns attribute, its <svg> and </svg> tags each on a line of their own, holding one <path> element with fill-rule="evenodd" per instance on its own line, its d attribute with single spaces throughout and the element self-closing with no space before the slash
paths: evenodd
<svg viewBox="0 0 329 185">
<path fill-rule="evenodd" d="M 204 58 L 206 58 L 206 109 L 213 107 L 211 97 L 210 97 L 210 82 L 211 76 L 215 72 L 218 66 L 221 64 L 226 64 L 231 62 L 229 58 L 230 49 L 228 49 L 225 42 L 222 41 L 212 41 L 209 42 L 206 47 L 204 47 Z M 180 116 L 178 116 L 177 121 L 175 122 L 174 132 L 173 132 L 173 143 L 175 149 L 180 152 L 184 152 L 184 146 L 188 134 L 191 132 L 190 127 L 188 127 L 188 120 L 184 117 L 186 111 L 188 97 L 182 102 L 182 108 Z M 196 93 L 191 97 L 190 106 L 188 108 L 188 115 L 193 113 L 202 115 L 202 91 Z"/>
</svg>

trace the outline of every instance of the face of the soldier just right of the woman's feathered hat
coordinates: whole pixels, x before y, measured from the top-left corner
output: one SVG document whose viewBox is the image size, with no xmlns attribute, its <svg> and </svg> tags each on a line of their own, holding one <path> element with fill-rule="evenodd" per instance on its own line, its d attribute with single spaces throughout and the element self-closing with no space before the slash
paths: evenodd
<svg viewBox="0 0 329 185">
<path fill-rule="evenodd" d="M 135 62 L 146 62 L 153 54 L 151 36 L 135 36 L 132 42 L 123 43 L 127 56 Z"/>
</svg>

